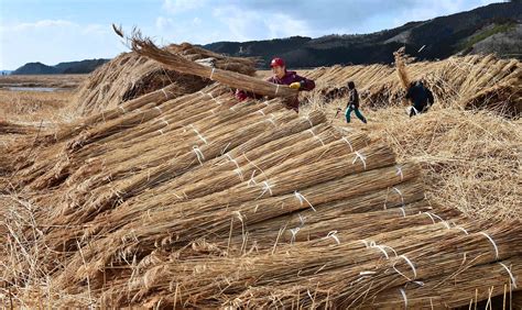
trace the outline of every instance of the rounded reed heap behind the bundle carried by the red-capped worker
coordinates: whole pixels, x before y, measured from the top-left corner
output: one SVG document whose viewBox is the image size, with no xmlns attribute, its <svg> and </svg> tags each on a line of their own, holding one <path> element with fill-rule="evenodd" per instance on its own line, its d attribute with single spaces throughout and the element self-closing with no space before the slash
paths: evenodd
<svg viewBox="0 0 522 310">
<path fill-rule="evenodd" d="M 188 43 L 171 44 L 165 51 L 196 60 L 208 67 L 220 68 L 243 75 L 253 75 L 255 60 L 224 57 L 222 55 L 193 46 Z M 117 108 L 122 102 L 171 86 L 174 97 L 200 90 L 211 81 L 187 74 L 166 69 L 156 62 L 137 53 L 123 53 L 98 68 L 84 81 L 76 96 L 75 106 L 80 115 L 89 115 L 105 109 Z M 175 87 L 173 87 L 175 86 Z"/>
</svg>

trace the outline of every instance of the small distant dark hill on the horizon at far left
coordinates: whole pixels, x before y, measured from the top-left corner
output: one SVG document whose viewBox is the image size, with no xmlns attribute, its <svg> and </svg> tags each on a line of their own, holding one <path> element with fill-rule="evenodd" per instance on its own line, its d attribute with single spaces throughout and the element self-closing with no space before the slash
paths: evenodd
<svg viewBox="0 0 522 310">
<path fill-rule="evenodd" d="M 48 66 L 42 63 L 28 63 L 12 71 L 12 75 L 58 75 L 58 74 L 89 74 L 110 59 L 85 59 L 80 62 L 59 63 Z"/>
</svg>

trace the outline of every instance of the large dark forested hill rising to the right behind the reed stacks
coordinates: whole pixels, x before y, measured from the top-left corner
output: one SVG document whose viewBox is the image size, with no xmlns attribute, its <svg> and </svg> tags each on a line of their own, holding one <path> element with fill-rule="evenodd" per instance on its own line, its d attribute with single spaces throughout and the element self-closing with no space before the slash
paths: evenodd
<svg viewBox="0 0 522 310">
<path fill-rule="evenodd" d="M 401 46 L 405 46 L 407 53 L 421 60 L 476 53 L 520 58 L 521 24 L 522 3 L 515 1 L 489 4 L 423 22 L 410 22 L 371 34 L 217 42 L 204 47 L 231 56 L 260 57 L 264 63 L 278 55 L 284 57 L 292 67 L 389 64 L 393 62 L 392 53 Z M 488 44 L 489 41 L 494 44 Z"/>
</svg>

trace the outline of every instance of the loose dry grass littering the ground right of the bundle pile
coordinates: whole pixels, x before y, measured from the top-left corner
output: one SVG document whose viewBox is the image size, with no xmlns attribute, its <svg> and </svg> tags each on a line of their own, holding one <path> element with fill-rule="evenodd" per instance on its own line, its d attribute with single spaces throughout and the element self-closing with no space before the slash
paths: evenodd
<svg viewBox="0 0 522 310">
<path fill-rule="evenodd" d="M 319 106 L 315 103 L 316 106 Z M 410 119 L 403 108 L 365 109 L 365 125 L 326 110 L 335 124 L 361 130 L 385 141 L 399 160 L 415 159 L 424 168 L 428 198 L 470 217 L 522 218 L 522 121 L 488 111 L 434 107 Z"/>
</svg>

